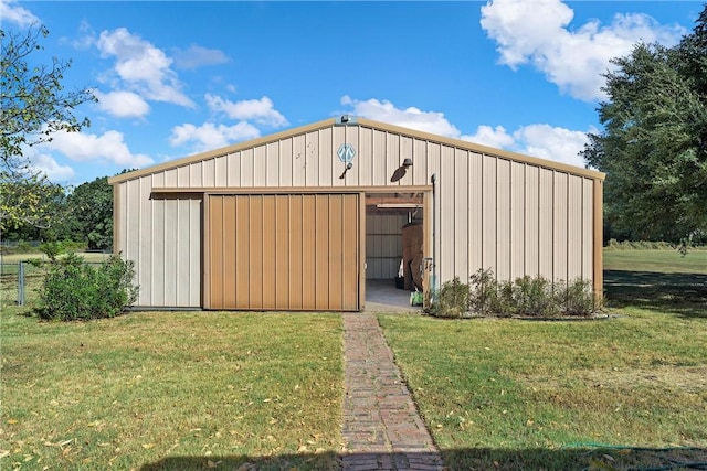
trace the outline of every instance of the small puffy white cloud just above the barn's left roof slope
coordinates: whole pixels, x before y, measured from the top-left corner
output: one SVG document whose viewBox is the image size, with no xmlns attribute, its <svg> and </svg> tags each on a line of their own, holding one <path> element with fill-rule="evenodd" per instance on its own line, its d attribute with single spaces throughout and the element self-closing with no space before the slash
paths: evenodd
<svg viewBox="0 0 707 471">
<path fill-rule="evenodd" d="M 245 121 L 233 126 L 214 125 L 213 122 L 204 122 L 201 126 L 184 124 L 172 128 L 169 143 L 175 147 L 191 143 L 194 152 L 201 152 L 254 139 L 260 135 L 256 127 Z"/>
</svg>

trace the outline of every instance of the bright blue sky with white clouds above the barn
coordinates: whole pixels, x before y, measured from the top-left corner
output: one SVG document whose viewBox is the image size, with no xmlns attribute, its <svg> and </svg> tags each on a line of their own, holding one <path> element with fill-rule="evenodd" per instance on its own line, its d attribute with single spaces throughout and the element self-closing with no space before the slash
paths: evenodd
<svg viewBox="0 0 707 471">
<path fill-rule="evenodd" d="M 25 153 L 78 185 L 341 114 L 583 167 L 609 60 L 677 43 L 703 7 L 0 0 L 0 21 L 44 24 L 66 87 L 99 99 L 75 113 L 89 128 Z"/>
</svg>

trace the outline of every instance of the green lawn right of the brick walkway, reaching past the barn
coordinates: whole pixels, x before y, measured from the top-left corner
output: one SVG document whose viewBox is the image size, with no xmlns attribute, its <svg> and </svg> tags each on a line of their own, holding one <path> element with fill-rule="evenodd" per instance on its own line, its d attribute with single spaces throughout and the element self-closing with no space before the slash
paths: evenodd
<svg viewBox="0 0 707 471">
<path fill-rule="evenodd" d="M 705 255 L 606 253 L 606 320 L 380 315 L 445 464 L 707 462 Z"/>
</svg>

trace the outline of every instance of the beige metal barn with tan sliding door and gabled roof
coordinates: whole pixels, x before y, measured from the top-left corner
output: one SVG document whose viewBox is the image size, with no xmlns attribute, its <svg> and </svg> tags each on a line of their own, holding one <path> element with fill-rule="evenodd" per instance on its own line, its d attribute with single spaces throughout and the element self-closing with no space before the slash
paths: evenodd
<svg viewBox="0 0 707 471">
<path fill-rule="evenodd" d="M 342 116 L 109 179 L 114 247 L 140 308 L 359 311 L 401 265 L 423 290 L 489 268 L 600 291 L 603 179 Z"/>
</svg>

